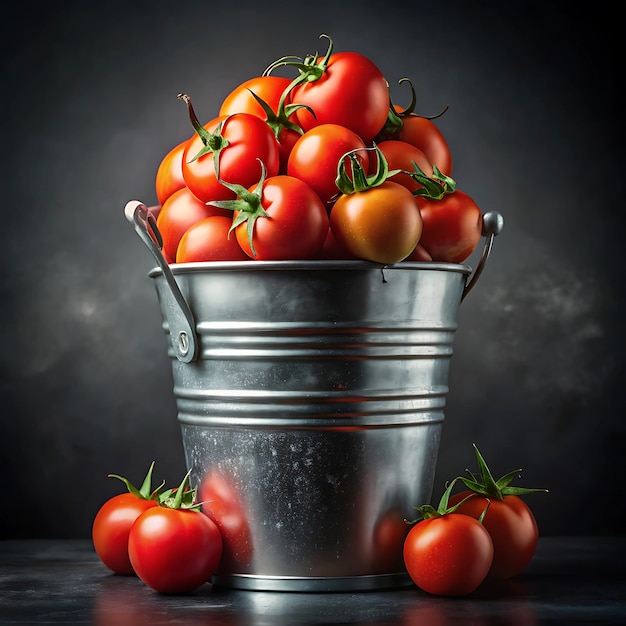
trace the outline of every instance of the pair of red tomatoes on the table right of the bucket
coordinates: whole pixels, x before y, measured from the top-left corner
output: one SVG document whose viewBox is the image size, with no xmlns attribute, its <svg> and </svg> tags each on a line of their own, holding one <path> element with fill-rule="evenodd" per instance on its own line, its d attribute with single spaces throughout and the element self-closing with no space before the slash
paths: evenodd
<svg viewBox="0 0 626 626">
<path fill-rule="evenodd" d="M 495 480 L 474 446 L 478 475 L 451 481 L 438 507 L 417 507 L 420 517 L 404 542 L 404 563 L 413 582 L 433 595 L 463 596 L 485 581 L 516 576 L 532 560 L 537 521 L 520 498 L 546 489 L 512 486 L 520 469 Z M 465 489 L 452 495 L 461 482 Z"/>
</svg>

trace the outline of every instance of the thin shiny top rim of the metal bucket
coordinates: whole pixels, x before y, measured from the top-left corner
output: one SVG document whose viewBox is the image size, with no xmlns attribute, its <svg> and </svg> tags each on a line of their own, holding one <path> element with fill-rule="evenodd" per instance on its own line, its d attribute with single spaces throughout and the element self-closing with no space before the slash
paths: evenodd
<svg viewBox="0 0 626 626">
<path fill-rule="evenodd" d="M 298 261 L 202 261 L 194 263 L 171 263 L 169 268 L 173 274 L 195 274 L 201 272 L 248 272 L 263 270 L 324 270 L 324 271 L 340 271 L 340 270 L 428 270 L 453 272 L 469 276 L 472 273 L 470 265 L 461 263 L 442 263 L 434 261 L 402 261 L 400 263 L 391 263 L 389 265 L 381 265 L 372 261 L 365 260 L 331 260 L 331 259 L 314 259 L 314 260 L 298 260 Z M 150 270 L 149 276 L 154 278 L 163 274 L 160 267 L 154 267 Z"/>
</svg>

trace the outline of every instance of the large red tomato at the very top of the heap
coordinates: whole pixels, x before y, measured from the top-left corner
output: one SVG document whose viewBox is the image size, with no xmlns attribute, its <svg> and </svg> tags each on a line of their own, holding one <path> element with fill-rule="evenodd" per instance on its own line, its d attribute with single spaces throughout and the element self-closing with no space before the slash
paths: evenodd
<svg viewBox="0 0 626 626">
<path fill-rule="evenodd" d="M 322 65 L 324 59 L 318 61 Z M 296 116 L 306 132 L 320 124 L 339 124 L 369 143 L 384 126 L 389 112 L 389 88 L 380 69 L 357 52 L 331 54 L 322 76 L 305 81 L 291 92 Z"/>
</svg>

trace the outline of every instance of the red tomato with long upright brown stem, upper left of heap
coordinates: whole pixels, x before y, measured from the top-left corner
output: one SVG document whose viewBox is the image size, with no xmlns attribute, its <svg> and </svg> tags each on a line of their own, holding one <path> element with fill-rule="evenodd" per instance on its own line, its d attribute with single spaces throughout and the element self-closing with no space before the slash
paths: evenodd
<svg viewBox="0 0 626 626">
<path fill-rule="evenodd" d="M 220 124 L 221 135 L 228 141 L 228 145 L 219 153 L 222 180 L 251 187 L 261 177 L 259 160 L 265 165 L 268 176 L 278 173 L 278 142 L 272 129 L 262 119 L 249 113 L 235 113 L 226 118 L 216 117 L 205 124 L 204 129 L 214 133 Z M 202 138 L 196 133 L 185 148 L 182 168 L 187 187 L 203 202 L 234 198 L 234 192 L 216 176 L 213 152 L 194 160 L 204 147 Z"/>
</svg>

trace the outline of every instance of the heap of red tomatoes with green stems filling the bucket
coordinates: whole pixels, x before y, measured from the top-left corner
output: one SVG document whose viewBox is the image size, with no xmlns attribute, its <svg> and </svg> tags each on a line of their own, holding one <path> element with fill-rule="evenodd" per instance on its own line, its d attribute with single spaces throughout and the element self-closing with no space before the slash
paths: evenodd
<svg viewBox="0 0 626 626">
<path fill-rule="evenodd" d="M 193 134 L 161 160 L 152 207 L 165 259 L 466 260 L 482 213 L 407 82 L 402 109 L 374 62 L 329 39 L 324 56 L 283 57 L 238 85 L 208 122 L 179 94 Z"/>
</svg>

